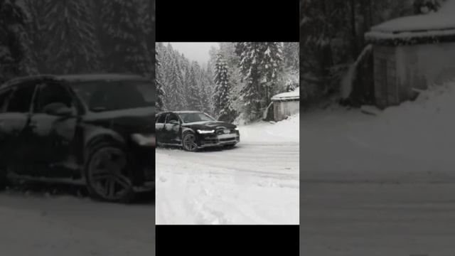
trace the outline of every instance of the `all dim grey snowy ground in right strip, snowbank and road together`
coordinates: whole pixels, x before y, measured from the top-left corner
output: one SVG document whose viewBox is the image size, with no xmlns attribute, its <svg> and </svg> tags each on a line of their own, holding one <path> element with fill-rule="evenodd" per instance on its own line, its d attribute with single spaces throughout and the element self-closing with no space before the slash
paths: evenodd
<svg viewBox="0 0 455 256">
<path fill-rule="evenodd" d="M 455 255 L 455 83 L 301 118 L 301 255 Z"/>
</svg>

